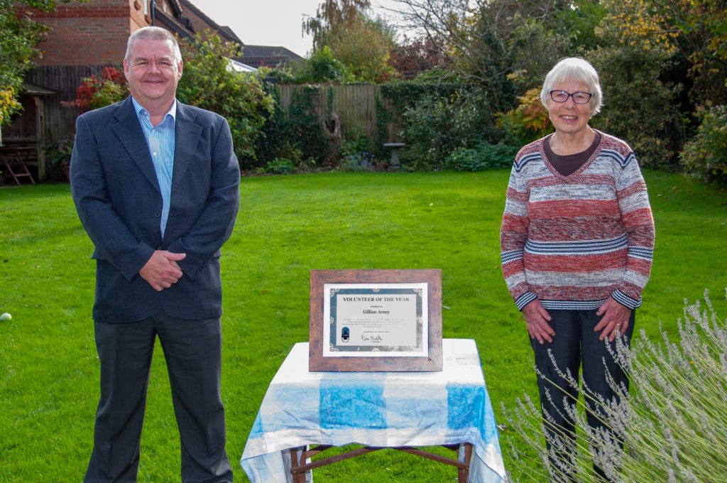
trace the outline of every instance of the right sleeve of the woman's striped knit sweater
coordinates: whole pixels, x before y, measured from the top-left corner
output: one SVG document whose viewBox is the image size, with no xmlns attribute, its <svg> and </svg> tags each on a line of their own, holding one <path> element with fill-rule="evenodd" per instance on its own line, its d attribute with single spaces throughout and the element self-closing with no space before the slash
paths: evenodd
<svg viewBox="0 0 727 483">
<path fill-rule="evenodd" d="M 611 296 L 633 310 L 641 305 L 641 291 L 651 274 L 655 236 L 646 183 L 633 153 L 628 153 L 616 180 L 616 196 L 626 228 L 628 255 L 624 279 Z"/>
</svg>

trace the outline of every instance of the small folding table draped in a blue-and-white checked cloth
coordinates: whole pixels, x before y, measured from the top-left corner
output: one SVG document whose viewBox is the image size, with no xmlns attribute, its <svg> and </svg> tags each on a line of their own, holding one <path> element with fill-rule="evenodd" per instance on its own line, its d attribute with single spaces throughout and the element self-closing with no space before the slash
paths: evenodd
<svg viewBox="0 0 727 483">
<path fill-rule="evenodd" d="M 297 343 L 247 439 L 240 464 L 250 481 L 306 481 L 313 468 L 350 458 L 310 463 L 311 455 L 356 443 L 364 447 L 352 456 L 394 448 L 457 466 L 461 482 L 505 482 L 475 341 L 444 339 L 442 352 L 438 372 L 309 372 L 308 343 Z M 321 446 L 308 450 L 311 444 Z M 458 458 L 414 448 L 439 445 L 457 450 Z"/>
</svg>

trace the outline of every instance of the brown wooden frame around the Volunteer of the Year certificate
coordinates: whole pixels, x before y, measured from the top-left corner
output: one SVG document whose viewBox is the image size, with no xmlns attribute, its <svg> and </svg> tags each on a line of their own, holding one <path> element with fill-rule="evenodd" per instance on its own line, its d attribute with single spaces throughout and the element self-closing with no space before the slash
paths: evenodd
<svg viewBox="0 0 727 483">
<path fill-rule="evenodd" d="M 428 355 L 324 357 L 324 284 L 427 284 Z M 311 270 L 308 370 L 334 372 L 395 372 L 442 370 L 442 271 Z"/>
</svg>

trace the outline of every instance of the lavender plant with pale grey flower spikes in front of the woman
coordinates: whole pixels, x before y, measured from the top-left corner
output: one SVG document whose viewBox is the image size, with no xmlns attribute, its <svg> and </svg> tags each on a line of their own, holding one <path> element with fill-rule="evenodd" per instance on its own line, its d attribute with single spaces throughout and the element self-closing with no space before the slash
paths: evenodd
<svg viewBox="0 0 727 483">
<path fill-rule="evenodd" d="M 512 410 L 503 404 L 507 431 L 524 442 L 519 449 L 515 444 L 508 448 L 515 474 L 526 481 L 727 482 L 725 323 L 705 291 L 704 306 L 685 300 L 675 340 L 662 327 L 659 332 L 657 342 L 642 330 L 632 347 L 622 341 L 616 345 L 612 355 L 627 371 L 630 391 L 610 380 L 617 394 L 613 401 L 587 387 L 583 399 L 566 401 L 579 428 L 575 447 L 567 431 L 542 420 L 539 405 L 527 394 Z M 559 377 L 578 384 L 569 373 Z M 549 397 L 562 396 L 556 392 Z M 607 429 L 590 428 L 587 413 Z M 593 465 L 603 470 L 605 480 Z"/>
</svg>

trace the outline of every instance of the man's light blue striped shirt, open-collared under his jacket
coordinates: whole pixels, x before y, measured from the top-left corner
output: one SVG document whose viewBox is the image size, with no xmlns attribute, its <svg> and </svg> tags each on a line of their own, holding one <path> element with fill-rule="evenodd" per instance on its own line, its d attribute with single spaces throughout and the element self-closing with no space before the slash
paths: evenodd
<svg viewBox="0 0 727 483">
<path fill-rule="evenodd" d="M 154 163 L 154 172 L 161 191 L 161 236 L 164 237 L 166 219 L 169 218 L 169 204 L 172 199 L 172 171 L 174 169 L 174 122 L 177 116 L 177 100 L 164 116 L 158 126 L 151 125 L 149 112 L 132 97 L 134 109 L 137 111 L 141 129 L 144 131 L 149 154 Z"/>
</svg>

